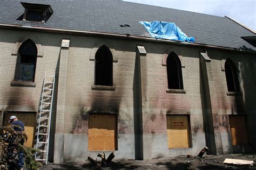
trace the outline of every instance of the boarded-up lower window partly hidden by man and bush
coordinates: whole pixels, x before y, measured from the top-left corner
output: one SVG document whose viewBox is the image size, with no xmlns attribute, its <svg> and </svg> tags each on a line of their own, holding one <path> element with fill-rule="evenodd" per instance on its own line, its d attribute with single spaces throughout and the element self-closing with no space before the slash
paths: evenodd
<svg viewBox="0 0 256 170">
<path fill-rule="evenodd" d="M 25 133 L 28 136 L 28 140 L 24 145 L 33 147 L 33 141 L 35 139 L 35 131 L 36 131 L 36 113 L 35 112 L 7 112 L 4 116 L 4 126 L 10 125 L 8 121 L 12 115 L 15 115 L 19 119 L 19 121 L 22 121 L 24 123 Z"/>
</svg>

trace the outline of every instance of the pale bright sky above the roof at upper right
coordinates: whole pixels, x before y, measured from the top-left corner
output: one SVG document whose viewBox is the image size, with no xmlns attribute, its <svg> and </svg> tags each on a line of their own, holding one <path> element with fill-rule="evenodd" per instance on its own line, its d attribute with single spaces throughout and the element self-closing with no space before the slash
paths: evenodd
<svg viewBox="0 0 256 170">
<path fill-rule="evenodd" d="M 256 0 L 124 0 L 179 10 L 230 17 L 256 30 Z"/>
</svg>

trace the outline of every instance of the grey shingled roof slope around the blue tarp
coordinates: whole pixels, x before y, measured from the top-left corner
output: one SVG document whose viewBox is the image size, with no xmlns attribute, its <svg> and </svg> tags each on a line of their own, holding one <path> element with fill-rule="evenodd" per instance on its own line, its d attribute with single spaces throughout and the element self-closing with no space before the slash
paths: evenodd
<svg viewBox="0 0 256 170">
<path fill-rule="evenodd" d="M 45 24 L 16 20 L 24 12 L 21 2 L 51 5 L 54 13 Z M 3 24 L 149 36 L 138 21 L 154 20 L 176 23 L 200 44 L 256 50 L 241 38 L 255 34 L 226 17 L 119 0 L 2 0 L 0 6 L 0 23 Z M 130 27 L 120 27 L 124 24 Z"/>
</svg>

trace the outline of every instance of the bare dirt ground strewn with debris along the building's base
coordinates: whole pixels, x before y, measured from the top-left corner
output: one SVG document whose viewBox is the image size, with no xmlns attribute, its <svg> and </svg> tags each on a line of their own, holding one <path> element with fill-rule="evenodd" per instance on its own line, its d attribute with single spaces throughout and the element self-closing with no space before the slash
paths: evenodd
<svg viewBox="0 0 256 170">
<path fill-rule="evenodd" d="M 226 158 L 253 160 L 254 166 L 224 164 L 223 161 Z M 204 155 L 203 158 L 187 158 L 186 155 L 179 155 L 173 158 L 152 160 L 113 159 L 111 164 L 105 167 L 96 167 L 91 162 L 85 161 L 63 165 L 48 164 L 43 166 L 42 169 L 256 169 L 256 154 Z"/>
</svg>

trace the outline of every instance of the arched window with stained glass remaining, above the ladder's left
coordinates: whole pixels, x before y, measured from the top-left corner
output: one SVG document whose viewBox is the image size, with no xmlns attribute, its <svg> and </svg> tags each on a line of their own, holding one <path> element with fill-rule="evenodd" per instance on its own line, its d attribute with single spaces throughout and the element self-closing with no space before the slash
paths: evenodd
<svg viewBox="0 0 256 170">
<path fill-rule="evenodd" d="M 36 44 L 28 39 L 18 50 L 18 60 L 16 66 L 16 81 L 34 82 L 36 72 L 37 47 Z"/>
</svg>

